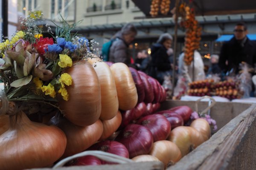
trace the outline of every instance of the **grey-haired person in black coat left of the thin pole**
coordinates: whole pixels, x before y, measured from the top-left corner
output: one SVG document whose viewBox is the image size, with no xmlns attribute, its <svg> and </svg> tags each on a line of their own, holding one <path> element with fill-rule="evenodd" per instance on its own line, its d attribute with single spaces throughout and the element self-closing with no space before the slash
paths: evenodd
<svg viewBox="0 0 256 170">
<path fill-rule="evenodd" d="M 161 84 L 165 76 L 172 76 L 172 65 L 167 51 L 172 47 L 172 36 L 168 33 L 161 34 L 157 43 L 151 47 L 151 62 L 149 75 Z"/>
</svg>

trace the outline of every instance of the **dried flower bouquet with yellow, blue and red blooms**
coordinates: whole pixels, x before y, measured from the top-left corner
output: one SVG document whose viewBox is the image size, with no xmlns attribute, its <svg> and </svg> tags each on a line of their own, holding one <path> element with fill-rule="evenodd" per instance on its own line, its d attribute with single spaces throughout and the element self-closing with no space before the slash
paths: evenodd
<svg viewBox="0 0 256 170">
<path fill-rule="evenodd" d="M 22 19 L 23 30 L 0 43 L 0 76 L 4 82 L 0 115 L 19 110 L 26 114 L 61 111 L 58 102 L 69 100 L 67 87 L 73 81 L 65 70 L 95 56 L 91 51 L 96 51 L 93 46 L 97 42 L 70 32 L 81 21 L 69 25 L 62 18 L 62 26 L 55 24 L 54 37 L 48 24 L 47 31 L 37 26 L 42 19 L 40 11 L 31 12 Z M 44 32 L 52 37 L 43 37 Z"/>
</svg>

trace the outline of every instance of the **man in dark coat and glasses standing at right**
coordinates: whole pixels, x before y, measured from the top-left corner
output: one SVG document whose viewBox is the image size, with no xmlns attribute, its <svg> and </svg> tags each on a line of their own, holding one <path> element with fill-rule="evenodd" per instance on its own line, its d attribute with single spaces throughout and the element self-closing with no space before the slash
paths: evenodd
<svg viewBox="0 0 256 170">
<path fill-rule="evenodd" d="M 256 63 L 256 42 L 251 41 L 247 35 L 247 26 L 238 23 L 234 29 L 234 37 L 221 47 L 218 65 L 221 71 L 239 73 L 239 64 L 246 62 L 251 67 Z"/>
</svg>

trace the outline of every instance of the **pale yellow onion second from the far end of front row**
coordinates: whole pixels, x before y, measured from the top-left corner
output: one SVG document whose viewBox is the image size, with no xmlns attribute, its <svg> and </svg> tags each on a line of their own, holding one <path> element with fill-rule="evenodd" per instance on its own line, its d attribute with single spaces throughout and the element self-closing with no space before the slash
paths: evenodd
<svg viewBox="0 0 256 170">
<path fill-rule="evenodd" d="M 179 126 L 171 131 L 169 141 L 180 149 L 182 157 L 204 142 L 203 136 L 193 127 Z"/>
</svg>

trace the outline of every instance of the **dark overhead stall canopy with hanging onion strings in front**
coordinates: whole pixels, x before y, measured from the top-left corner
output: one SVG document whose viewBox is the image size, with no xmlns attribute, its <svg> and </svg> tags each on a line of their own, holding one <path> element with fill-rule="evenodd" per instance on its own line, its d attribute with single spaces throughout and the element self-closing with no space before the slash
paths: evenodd
<svg viewBox="0 0 256 170">
<path fill-rule="evenodd" d="M 150 17 L 150 0 L 132 0 L 138 8 Z M 189 3 L 190 0 L 183 0 Z M 256 13 L 256 0 L 192 0 L 198 15 L 242 14 Z M 174 8 L 175 0 L 171 0 L 170 10 Z M 169 16 L 171 14 L 169 13 Z M 160 15 L 163 17 L 163 15 Z"/>
</svg>

